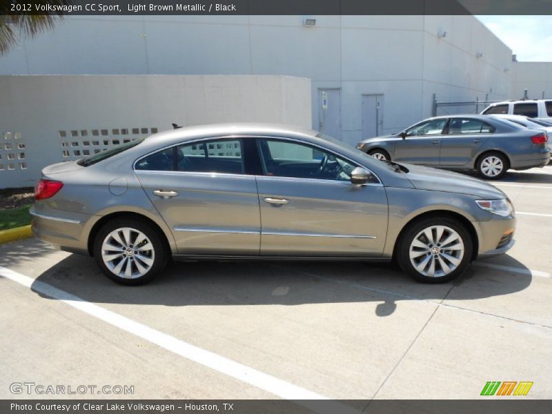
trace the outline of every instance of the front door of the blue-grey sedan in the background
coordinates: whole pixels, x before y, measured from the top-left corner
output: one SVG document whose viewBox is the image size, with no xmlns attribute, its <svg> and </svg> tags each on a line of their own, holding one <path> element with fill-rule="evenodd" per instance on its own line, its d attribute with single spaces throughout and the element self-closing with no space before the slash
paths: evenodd
<svg viewBox="0 0 552 414">
<path fill-rule="evenodd" d="M 430 119 L 408 128 L 406 137 L 398 137 L 393 161 L 424 166 L 439 165 L 440 146 L 446 118 Z"/>
</svg>

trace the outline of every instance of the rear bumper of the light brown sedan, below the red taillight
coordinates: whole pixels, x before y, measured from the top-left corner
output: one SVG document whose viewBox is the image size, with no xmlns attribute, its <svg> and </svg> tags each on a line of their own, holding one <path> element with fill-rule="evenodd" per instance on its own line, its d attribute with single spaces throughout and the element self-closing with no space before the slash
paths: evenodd
<svg viewBox="0 0 552 414">
<path fill-rule="evenodd" d="M 29 210 L 32 216 L 31 230 L 35 237 L 48 242 L 62 250 L 88 254 L 88 238 L 84 227 L 90 215 L 82 213 L 48 211 L 32 206 Z"/>
</svg>

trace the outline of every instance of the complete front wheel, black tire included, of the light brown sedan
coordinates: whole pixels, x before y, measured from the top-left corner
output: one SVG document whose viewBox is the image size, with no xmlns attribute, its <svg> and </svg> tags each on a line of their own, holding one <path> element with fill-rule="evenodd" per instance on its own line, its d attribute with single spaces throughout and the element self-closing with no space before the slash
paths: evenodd
<svg viewBox="0 0 552 414">
<path fill-rule="evenodd" d="M 431 239 L 426 234 L 431 235 Z M 408 226 L 397 243 L 399 266 L 422 283 L 446 283 L 462 275 L 473 253 L 468 230 L 450 217 L 435 216 L 416 221 Z"/>
</svg>

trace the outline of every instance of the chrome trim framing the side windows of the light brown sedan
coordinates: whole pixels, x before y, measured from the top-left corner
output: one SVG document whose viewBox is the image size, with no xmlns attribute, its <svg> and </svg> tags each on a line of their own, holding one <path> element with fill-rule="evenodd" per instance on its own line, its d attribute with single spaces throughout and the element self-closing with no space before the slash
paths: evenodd
<svg viewBox="0 0 552 414">
<path fill-rule="evenodd" d="M 213 141 L 213 139 L 247 139 L 247 138 L 257 138 L 257 139 L 279 139 L 279 140 L 282 140 L 282 141 L 295 141 L 295 142 L 299 142 L 301 144 L 306 144 L 306 145 L 310 145 L 310 146 L 315 146 L 317 148 L 321 148 L 322 150 L 325 150 L 327 152 L 331 152 L 333 155 L 337 155 L 337 157 L 341 157 L 343 159 L 346 159 L 346 161 L 349 161 L 351 162 L 353 165 L 357 166 L 357 167 L 362 167 L 364 168 L 365 170 L 368 170 L 369 172 L 371 172 L 374 177 L 377 178 L 377 181 L 380 181 L 379 184 L 377 183 L 371 183 L 371 184 L 363 184 L 363 185 L 372 185 L 372 186 L 384 186 L 383 183 L 382 183 L 382 179 L 380 179 L 380 176 L 378 176 L 375 172 L 373 172 L 373 170 L 367 166 L 363 166 L 363 165 L 359 165 L 359 163 L 357 161 L 354 161 L 353 159 L 349 158 L 349 157 L 346 157 L 346 155 L 342 155 L 342 154 L 336 154 L 335 151 L 333 150 L 330 150 L 324 146 L 320 146 L 318 144 L 313 144 L 312 142 L 307 142 L 307 141 L 304 141 L 302 139 L 297 139 L 297 138 L 293 138 L 293 137 L 277 137 L 277 136 L 273 136 L 273 135 L 221 135 L 219 137 L 201 137 L 201 138 L 192 138 L 192 139 L 189 139 L 187 141 L 181 141 L 177 144 L 171 144 L 171 145 L 168 145 L 168 146 L 164 146 L 164 147 L 161 147 L 161 148 L 157 148 L 156 150 L 152 150 L 150 152 L 148 152 L 147 154 L 145 155 L 141 155 L 141 157 L 137 158 L 133 163 L 132 163 L 132 170 L 137 173 L 137 172 L 159 172 L 159 173 L 162 173 L 162 174 L 166 174 L 167 172 L 177 172 L 179 174 L 206 174 L 206 175 L 214 175 L 214 174 L 217 174 L 217 175 L 230 175 L 232 177 L 237 177 L 237 176 L 244 176 L 244 177 L 273 177 L 273 176 L 269 176 L 269 175 L 249 175 L 249 174 L 233 174 L 232 172 L 199 172 L 199 171 L 159 171 L 159 170 L 137 170 L 136 169 L 136 163 L 138 161 L 141 161 L 141 159 L 144 159 L 146 157 L 148 157 L 148 155 L 152 155 L 154 154 L 155 152 L 158 152 L 158 151 L 163 151 L 163 150 L 166 150 L 168 148 L 172 148 L 172 147 L 175 147 L 175 146 L 181 146 L 181 145 L 186 145 L 186 144 L 193 144 L 193 143 L 197 143 L 197 142 L 201 142 L 201 141 Z M 242 148 L 242 161 L 244 160 L 244 151 L 243 151 L 243 148 Z M 287 179 L 297 179 L 297 177 L 279 177 L 279 178 L 287 178 Z M 332 182 L 346 182 L 348 184 L 351 184 L 351 181 L 339 181 L 339 180 L 335 180 L 335 179 L 317 179 L 317 178 L 314 178 L 315 180 L 317 181 L 332 181 Z M 302 179 L 303 180 L 303 179 Z"/>
</svg>

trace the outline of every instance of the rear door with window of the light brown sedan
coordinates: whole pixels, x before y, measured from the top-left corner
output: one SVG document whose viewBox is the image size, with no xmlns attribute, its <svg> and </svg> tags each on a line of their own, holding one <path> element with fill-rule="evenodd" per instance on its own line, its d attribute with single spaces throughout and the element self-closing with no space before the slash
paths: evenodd
<svg viewBox="0 0 552 414">
<path fill-rule="evenodd" d="M 204 139 L 148 155 L 136 175 L 180 254 L 258 255 L 261 222 L 243 139 Z"/>
</svg>

